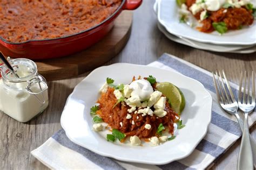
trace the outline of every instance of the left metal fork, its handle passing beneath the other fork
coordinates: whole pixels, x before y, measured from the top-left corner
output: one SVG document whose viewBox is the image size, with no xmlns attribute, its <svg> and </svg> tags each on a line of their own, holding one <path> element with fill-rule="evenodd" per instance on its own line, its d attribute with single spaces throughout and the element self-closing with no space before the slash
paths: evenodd
<svg viewBox="0 0 256 170">
<path fill-rule="evenodd" d="M 241 131 L 243 131 L 244 130 L 244 122 L 242 121 L 242 119 L 240 118 L 240 116 L 238 115 L 238 112 L 237 112 L 238 111 L 238 102 L 235 100 L 234 94 L 230 87 L 230 83 L 227 80 L 224 70 L 222 70 L 222 73 L 223 73 L 226 87 L 229 91 L 229 94 L 227 93 L 225 83 L 223 81 L 223 76 L 221 75 L 221 73 L 217 70 L 215 72 L 217 77 L 215 77 L 214 73 L 212 72 L 217 99 L 219 101 L 221 108 L 223 108 L 228 114 L 235 115 L 235 117 L 237 118 L 238 124 L 241 128 Z M 256 164 L 256 160 L 255 160 L 256 159 L 256 143 L 251 136 L 250 136 L 250 141 L 251 141 L 251 145 L 253 148 L 254 164 Z"/>
</svg>

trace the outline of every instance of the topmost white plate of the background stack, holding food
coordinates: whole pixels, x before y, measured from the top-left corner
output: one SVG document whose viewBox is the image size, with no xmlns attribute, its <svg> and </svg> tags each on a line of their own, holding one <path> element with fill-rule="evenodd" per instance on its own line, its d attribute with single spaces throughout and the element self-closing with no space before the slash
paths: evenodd
<svg viewBox="0 0 256 170">
<path fill-rule="evenodd" d="M 253 1 L 253 3 L 255 3 Z M 254 4 L 255 5 L 255 4 Z M 222 45 L 255 45 L 256 21 L 253 25 L 243 27 L 241 30 L 231 30 L 222 36 L 217 31 L 212 33 L 199 32 L 187 24 L 179 22 L 178 6 L 175 0 L 159 0 L 158 20 L 168 32 L 194 41 Z"/>
</svg>

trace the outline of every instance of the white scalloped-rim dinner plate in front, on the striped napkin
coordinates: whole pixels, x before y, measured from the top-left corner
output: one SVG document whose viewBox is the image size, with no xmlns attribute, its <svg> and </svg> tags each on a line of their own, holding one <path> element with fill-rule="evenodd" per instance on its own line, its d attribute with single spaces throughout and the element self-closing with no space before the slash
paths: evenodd
<svg viewBox="0 0 256 170">
<path fill-rule="evenodd" d="M 186 106 L 181 114 L 185 127 L 176 131 L 176 138 L 159 146 L 152 147 L 149 142 L 143 146 L 132 146 L 129 139 L 125 143 L 108 142 L 108 130 L 92 130 L 90 108 L 99 97 L 99 88 L 111 77 L 115 83 L 129 84 L 133 76 L 153 75 L 159 82 L 172 82 L 184 93 Z M 60 123 L 66 136 L 74 143 L 97 154 L 114 159 L 161 165 L 187 157 L 207 132 L 211 121 L 212 97 L 200 82 L 164 69 L 116 63 L 99 67 L 91 72 L 73 90 L 66 102 Z"/>
</svg>

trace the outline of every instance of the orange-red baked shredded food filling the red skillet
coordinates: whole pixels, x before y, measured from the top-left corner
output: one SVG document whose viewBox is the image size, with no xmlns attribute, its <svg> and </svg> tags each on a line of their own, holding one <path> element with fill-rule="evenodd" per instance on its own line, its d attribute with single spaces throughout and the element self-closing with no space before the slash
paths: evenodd
<svg viewBox="0 0 256 170">
<path fill-rule="evenodd" d="M 122 0 L 3 0 L 0 37 L 24 42 L 70 36 L 103 22 L 121 3 Z"/>
</svg>

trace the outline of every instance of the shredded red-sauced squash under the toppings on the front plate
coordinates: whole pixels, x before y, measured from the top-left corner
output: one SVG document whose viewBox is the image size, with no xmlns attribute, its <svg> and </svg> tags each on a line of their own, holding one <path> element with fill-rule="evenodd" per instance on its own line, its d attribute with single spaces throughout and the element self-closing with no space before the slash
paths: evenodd
<svg viewBox="0 0 256 170">
<path fill-rule="evenodd" d="M 173 123 L 179 120 L 179 115 L 174 112 L 168 102 L 165 104 L 165 111 L 167 115 L 164 117 L 157 117 L 155 115 L 142 116 L 142 114 L 131 114 L 127 111 L 130 107 L 126 104 L 122 105 L 118 103 L 116 107 L 113 106 L 117 103 L 117 98 L 113 94 L 114 88 L 108 88 L 106 93 L 103 93 L 98 99 L 99 110 L 96 112 L 105 123 L 109 124 L 112 129 L 118 129 L 119 131 L 128 136 L 138 136 L 139 138 L 151 138 L 158 136 L 157 128 L 162 123 L 166 128 L 169 129 L 169 133 L 173 135 Z M 154 110 L 153 108 L 151 108 Z M 126 115 L 130 114 L 131 119 L 126 119 Z M 138 119 L 137 119 L 138 116 Z M 132 124 L 134 121 L 134 124 Z M 120 125 L 123 123 L 123 126 Z M 145 124 L 150 124 L 151 129 L 145 129 Z"/>
</svg>

